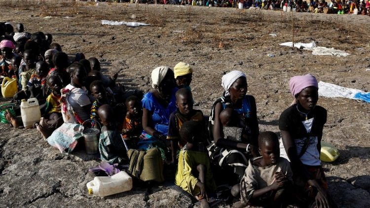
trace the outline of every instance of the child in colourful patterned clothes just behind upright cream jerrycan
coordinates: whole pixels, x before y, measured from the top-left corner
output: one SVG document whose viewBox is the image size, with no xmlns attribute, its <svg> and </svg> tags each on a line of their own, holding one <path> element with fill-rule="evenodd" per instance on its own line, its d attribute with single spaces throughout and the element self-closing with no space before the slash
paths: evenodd
<svg viewBox="0 0 370 208">
<path fill-rule="evenodd" d="M 44 100 L 44 89 L 46 83 L 46 75 L 48 73 L 47 64 L 45 62 L 36 63 L 36 74 L 32 74 L 30 80 L 27 83 L 28 90 L 30 91 L 30 98 L 37 98 L 38 102 Z"/>
</svg>

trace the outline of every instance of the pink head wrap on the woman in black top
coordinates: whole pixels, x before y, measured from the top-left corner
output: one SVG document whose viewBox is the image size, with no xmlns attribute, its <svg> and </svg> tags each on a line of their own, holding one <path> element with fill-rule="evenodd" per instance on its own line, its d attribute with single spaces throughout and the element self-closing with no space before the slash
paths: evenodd
<svg viewBox="0 0 370 208">
<path fill-rule="evenodd" d="M 310 73 L 303 76 L 294 76 L 289 80 L 289 89 L 293 97 L 296 97 L 306 87 L 316 87 L 319 89 L 316 78 Z"/>
</svg>

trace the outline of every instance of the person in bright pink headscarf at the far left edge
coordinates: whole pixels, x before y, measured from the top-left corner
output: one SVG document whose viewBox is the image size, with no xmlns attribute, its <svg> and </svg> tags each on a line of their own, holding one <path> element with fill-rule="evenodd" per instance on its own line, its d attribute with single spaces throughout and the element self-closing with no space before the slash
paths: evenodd
<svg viewBox="0 0 370 208">
<path fill-rule="evenodd" d="M 13 53 L 14 44 L 10 40 L 2 40 L 0 42 L 0 75 L 1 76 L 11 76 L 14 74 L 14 69 L 12 68 L 11 59 L 16 56 Z M 15 75 L 15 74 L 14 74 Z"/>
</svg>

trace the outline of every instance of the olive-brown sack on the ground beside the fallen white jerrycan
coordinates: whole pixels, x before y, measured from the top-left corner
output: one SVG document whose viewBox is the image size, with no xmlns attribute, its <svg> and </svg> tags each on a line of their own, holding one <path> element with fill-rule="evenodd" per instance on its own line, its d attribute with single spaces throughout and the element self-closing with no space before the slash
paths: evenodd
<svg viewBox="0 0 370 208">
<path fill-rule="evenodd" d="M 129 149 L 127 156 L 130 160 L 127 173 L 143 181 L 164 181 L 163 160 L 157 148 L 147 151 Z"/>
</svg>

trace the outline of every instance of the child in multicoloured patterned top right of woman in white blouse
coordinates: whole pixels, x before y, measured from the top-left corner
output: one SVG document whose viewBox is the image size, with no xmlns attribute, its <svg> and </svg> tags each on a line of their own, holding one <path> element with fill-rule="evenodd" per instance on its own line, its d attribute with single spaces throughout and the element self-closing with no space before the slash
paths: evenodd
<svg viewBox="0 0 370 208">
<path fill-rule="evenodd" d="M 91 125 L 97 128 L 99 126 L 97 122 L 99 123 L 101 122 L 99 116 L 97 115 L 99 107 L 102 106 L 103 104 L 111 104 L 111 102 L 107 97 L 107 92 L 105 87 L 103 86 L 102 81 L 100 80 L 93 81 L 90 84 L 90 91 L 95 98 L 95 101 L 91 106 L 90 119 L 93 119 Z"/>
</svg>

